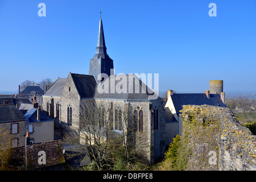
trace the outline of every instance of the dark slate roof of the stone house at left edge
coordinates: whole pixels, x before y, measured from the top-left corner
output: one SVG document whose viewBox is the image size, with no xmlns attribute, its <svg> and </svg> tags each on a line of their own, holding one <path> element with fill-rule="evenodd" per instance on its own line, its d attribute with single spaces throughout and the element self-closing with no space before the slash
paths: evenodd
<svg viewBox="0 0 256 182">
<path fill-rule="evenodd" d="M 0 123 L 10 121 L 24 121 L 26 118 L 12 104 L 0 105 Z"/>
</svg>

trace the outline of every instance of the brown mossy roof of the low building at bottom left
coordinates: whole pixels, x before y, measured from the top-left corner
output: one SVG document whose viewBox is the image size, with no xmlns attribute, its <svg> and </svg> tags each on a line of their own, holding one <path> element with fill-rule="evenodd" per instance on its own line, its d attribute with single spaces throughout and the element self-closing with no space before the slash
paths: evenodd
<svg viewBox="0 0 256 182">
<path fill-rule="evenodd" d="M 13 148 L 9 168 L 13 171 L 26 169 L 40 171 L 64 170 L 65 158 L 61 140 L 27 143 L 26 147 L 23 145 Z"/>
</svg>

